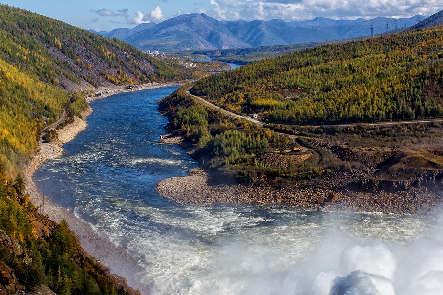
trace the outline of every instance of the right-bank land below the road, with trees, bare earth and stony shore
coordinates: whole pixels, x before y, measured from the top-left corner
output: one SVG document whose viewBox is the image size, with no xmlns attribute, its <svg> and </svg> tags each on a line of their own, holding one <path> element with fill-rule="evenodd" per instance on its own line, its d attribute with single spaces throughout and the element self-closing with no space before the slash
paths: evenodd
<svg viewBox="0 0 443 295">
<path fill-rule="evenodd" d="M 385 213 L 441 206 L 443 120 L 259 127 L 183 89 L 159 105 L 169 118 L 171 143 L 181 143 L 200 162 L 189 177 L 156 186 L 176 202 Z"/>
</svg>

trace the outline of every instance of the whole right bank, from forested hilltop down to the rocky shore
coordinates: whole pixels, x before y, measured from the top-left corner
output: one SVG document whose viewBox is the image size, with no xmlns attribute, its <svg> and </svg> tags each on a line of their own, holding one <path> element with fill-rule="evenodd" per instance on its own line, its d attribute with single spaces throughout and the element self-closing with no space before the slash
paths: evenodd
<svg viewBox="0 0 443 295">
<path fill-rule="evenodd" d="M 214 108 L 177 90 L 160 109 L 168 131 L 204 158 L 208 186 L 184 194 L 166 183 L 158 191 L 185 204 L 395 213 L 439 206 L 442 45 L 442 26 L 420 29 L 305 49 L 186 87 Z M 244 119 L 252 113 L 268 124 Z M 199 198 L 192 198 L 194 190 Z"/>
</svg>

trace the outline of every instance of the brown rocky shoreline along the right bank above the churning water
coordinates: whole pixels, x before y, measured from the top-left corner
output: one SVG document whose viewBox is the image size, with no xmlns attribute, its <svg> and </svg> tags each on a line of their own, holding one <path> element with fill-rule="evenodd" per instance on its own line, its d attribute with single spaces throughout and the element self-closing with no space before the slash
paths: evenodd
<svg viewBox="0 0 443 295">
<path fill-rule="evenodd" d="M 192 150 L 180 137 L 165 136 L 165 143 L 178 144 L 192 155 Z M 390 190 L 390 187 L 365 190 L 352 188 L 372 175 L 370 168 L 354 169 L 313 180 L 276 186 L 269 183 L 214 184 L 217 174 L 203 166 L 188 171 L 188 176 L 160 181 L 156 190 L 165 197 L 184 205 L 211 203 L 255 203 L 294 209 L 326 211 L 380 212 L 386 214 L 425 214 L 441 205 L 441 191 L 410 186 Z M 390 185 L 390 184 L 388 184 Z"/>
</svg>

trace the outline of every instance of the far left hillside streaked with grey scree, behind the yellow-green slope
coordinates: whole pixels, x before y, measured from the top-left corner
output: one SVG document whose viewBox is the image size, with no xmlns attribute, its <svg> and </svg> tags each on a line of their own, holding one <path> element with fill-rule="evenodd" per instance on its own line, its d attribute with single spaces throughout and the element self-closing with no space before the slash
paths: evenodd
<svg viewBox="0 0 443 295">
<path fill-rule="evenodd" d="M 169 81 L 178 73 L 117 39 L 0 5 L 0 58 L 62 89 Z"/>
</svg>

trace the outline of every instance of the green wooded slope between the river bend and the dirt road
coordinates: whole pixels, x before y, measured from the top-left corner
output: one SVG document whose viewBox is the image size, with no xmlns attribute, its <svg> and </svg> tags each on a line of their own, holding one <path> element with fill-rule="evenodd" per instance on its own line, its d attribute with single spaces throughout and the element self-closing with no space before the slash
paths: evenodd
<svg viewBox="0 0 443 295">
<path fill-rule="evenodd" d="M 237 176 L 250 178 L 270 170 L 275 173 L 273 169 L 258 167 L 253 157 L 284 150 L 293 146 L 293 141 L 198 103 L 184 92 L 186 87 L 160 100 L 159 109 L 169 117 L 168 131 L 183 136 L 198 148 L 194 157 L 205 157 L 208 167 L 224 174 L 224 181 Z"/>
</svg>

